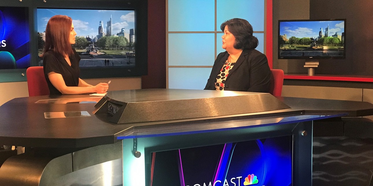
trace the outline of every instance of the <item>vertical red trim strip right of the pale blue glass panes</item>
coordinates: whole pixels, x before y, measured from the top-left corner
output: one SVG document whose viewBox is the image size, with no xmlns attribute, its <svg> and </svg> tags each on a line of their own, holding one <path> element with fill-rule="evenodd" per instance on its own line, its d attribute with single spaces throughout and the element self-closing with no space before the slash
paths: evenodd
<svg viewBox="0 0 373 186">
<path fill-rule="evenodd" d="M 272 48 L 272 0 L 267 0 L 267 28 L 266 28 L 266 56 L 268 59 L 269 68 L 272 69 L 273 64 L 273 48 Z"/>
</svg>

